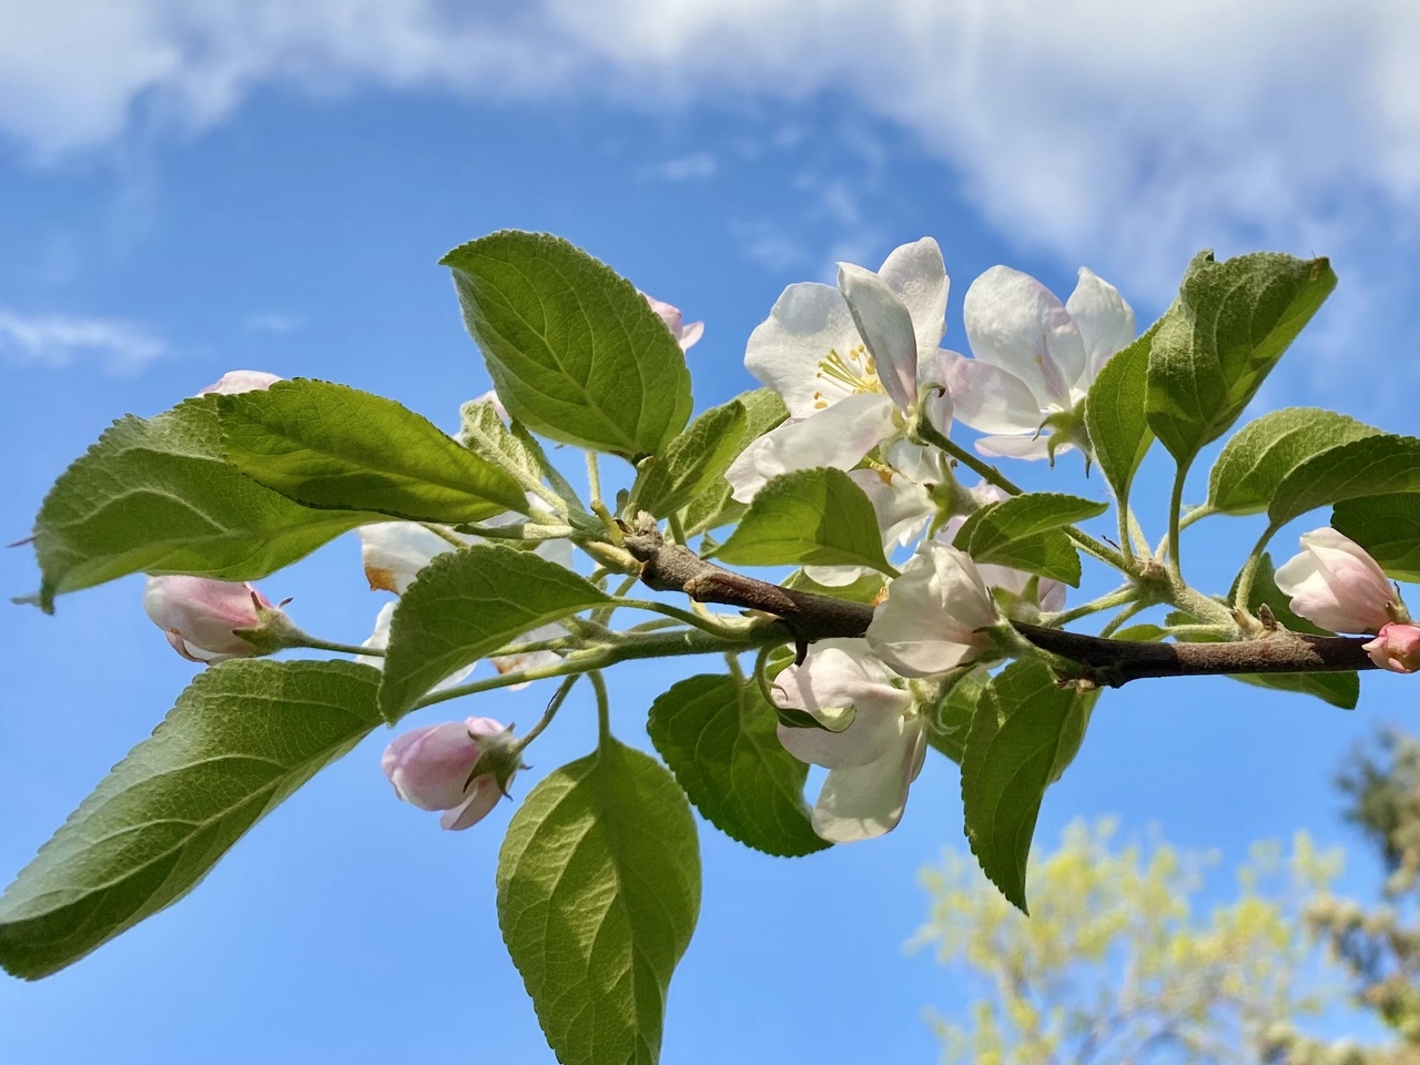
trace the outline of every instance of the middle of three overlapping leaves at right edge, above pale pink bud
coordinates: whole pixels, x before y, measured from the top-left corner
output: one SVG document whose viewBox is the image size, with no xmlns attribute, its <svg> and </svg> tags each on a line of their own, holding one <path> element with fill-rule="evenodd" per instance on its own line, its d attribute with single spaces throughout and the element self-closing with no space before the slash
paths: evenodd
<svg viewBox="0 0 1420 1065">
<path fill-rule="evenodd" d="M 1382 433 L 1332 447 L 1294 469 L 1274 490 L 1267 515 L 1275 530 L 1328 503 L 1417 491 L 1420 439 Z"/>
</svg>

